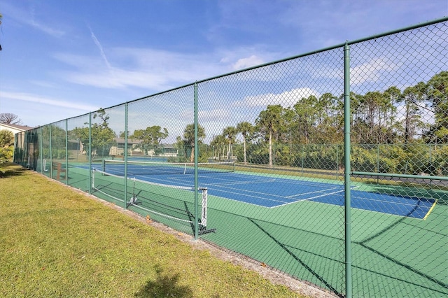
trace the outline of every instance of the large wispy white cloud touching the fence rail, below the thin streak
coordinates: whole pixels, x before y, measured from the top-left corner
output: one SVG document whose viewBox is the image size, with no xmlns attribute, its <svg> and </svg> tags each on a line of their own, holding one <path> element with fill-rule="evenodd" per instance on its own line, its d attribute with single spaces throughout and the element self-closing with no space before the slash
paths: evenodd
<svg viewBox="0 0 448 298">
<path fill-rule="evenodd" d="M 276 57 L 275 53 L 256 52 L 251 48 L 215 50 L 208 55 L 152 48 L 110 48 L 106 57 L 94 34 L 92 38 L 102 53 L 102 59 L 57 53 L 56 59 L 73 66 L 73 70 L 60 73 L 61 78 L 71 83 L 109 89 L 140 87 L 162 91 L 262 64 Z"/>
</svg>

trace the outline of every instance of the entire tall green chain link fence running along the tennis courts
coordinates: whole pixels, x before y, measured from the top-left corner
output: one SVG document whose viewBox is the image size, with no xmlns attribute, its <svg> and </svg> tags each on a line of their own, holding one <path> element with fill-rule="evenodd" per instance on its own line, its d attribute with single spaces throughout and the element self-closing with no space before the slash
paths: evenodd
<svg viewBox="0 0 448 298">
<path fill-rule="evenodd" d="M 209 78 L 17 134 L 15 162 L 335 295 L 447 296 L 447 41 Z"/>
</svg>

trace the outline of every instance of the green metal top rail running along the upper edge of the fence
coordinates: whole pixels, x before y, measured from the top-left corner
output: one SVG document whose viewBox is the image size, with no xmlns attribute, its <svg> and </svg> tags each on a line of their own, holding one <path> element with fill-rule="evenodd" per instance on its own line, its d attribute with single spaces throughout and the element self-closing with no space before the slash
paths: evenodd
<svg viewBox="0 0 448 298">
<path fill-rule="evenodd" d="M 311 51 L 311 52 L 305 52 L 305 53 L 300 54 L 300 55 L 295 55 L 295 56 L 291 56 L 291 57 L 275 60 L 275 61 L 272 61 L 272 62 L 267 62 L 265 64 L 259 64 L 259 65 L 251 66 L 251 67 L 248 67 L 246 69 L 239 69 L 237 71 L 232 71 L 230 73 L 224 73 L 224 74 L 221 74 L 221 75 L 218 75 L 218 76 L 213 76 L 211 78 L 205 78 L 205 79 L 202 79 L 202 80 L 197 80 L 194 83 L 188 83 L 186 85 L 182 85 L 182 86 L 179 86 L 179 87 L 174 87 L 172 89 L 165 90 L 165 91 L 162 91 L 162 92 L 157 92 L 157 93 L 148 95 L 146 97 L 133 99 L 131 101 L 125 101 L 122 104 L 116 104 L 115 106 L 109 106 L 107 108 L 99 108 L 97 111 L 106 110 L 106 109 L 109 109 L 109 108 L 116 108 L 117 106 L 122 106 L 122 105 L 125 105 L 125 104 L 129 104 L 131 102 L 139 101 L 141 99 L 147 99 L 147 98 L 150 98 L 150 97 L 155 97 L 155 96 L 160 95 L 160 94 L 173 92 L 175 90 L 179 90 L 179 89 L 182 89 L 184 87 L 189 87 L 189 86 L 192 86 L 192 85 L 195 85 L 195 84 L 198 84 L 198 83 L 205 83 L 205 82 L 207 82 L 209 80 L 214 80 L 214 79 L 217 79 L 217 78 L 223 78 L 225 76 L 232 76 L 232 75 L 235 75 L 237 73 L 243 73 L 243 72 L 246 72 L 246 71 L 251 71 L 252 69 L 260 69 L 260 68 L 265 67 L 265 66 L 278 64 L 278 63 L 281 63 L 281 62 L 286 62 L 288 60 L 297 59 L 297 58 L 305 57 L 305 56 L 309 56 L 309 55 L 314 55 L 314 54 L 317 54 L 319 52 L 325 52 L 325 51 L 328 51 L 328 50 L 334 50 L 336 48 L 343 48 L 345 45 L 353 45 L 353 44 L 356 44 L 356 43 L 361 43 L 363 41 L 369 41 L 369 40 L 372 40 L 372 39 L 375 39 L 375 38 L 380 38 L 380 37 L 384 37 L 384 36 L 388 36 L 388 35 L 392 35 L 392 34 L 397 34 L 397 33 L 400 33 L 402 31 L 408 31 L 408 30 L 412 30 L 412 29 L 416 29 L 416 28 L 420 28 L 420 27 L 425 27 L 425 26 L 429 26 L 431 24 L 437 24 L 437 23 L 446 22 L 446 21 L 448 21 L 448 16 L 441 17 L 439 19 L 431 20 L 431 21 L 428 21 L 428 22 L 421 22 L 421 23 L 418 23 L 418 24 L 414 24 L 412 26 L 403 27 L 401 29 L 395 29 L 395 30 L 392 30 L 392 31 L 387 31 L 387 32 L 384 32 L 384 33 L 381 33 L 381 34 L 374 34 L 372 36 L 356 39 L 354 41 L 345 41 L 344 43 L 340 43 L 340 44 L 337 44 L 337 45 L 332 45 L 332 46 L 330 46 L 328 48 L 322 48 L 320 50 L 314 50 L 314 51 Z M 64 120 L 70 120 L 70 119 L 73 119 L 73 118 L 78 118 L 78 117 L 82 117 L 82 116 L 85 116 L 85 115 L 90 115 L 92 113 L 96 113 L 97 111 L 91 111 L 89 113 L 85 113 L 85 114 L 82 114 L 82 115 L 74 116 L 74 117 L 71 117 L 71 118 L 66 118 Z M 55 121 L 55 122 L 52 122 L 52 123 L 48 123 L 48 125 L 51 125 L 53 123 L 57 123 L 57 122 L 60 122 L 60 121 L 63 121 L 63 120 L 59 120 L 59 121 Z M 43 126 L 45 126 L 45 125 L 43 125 Z"/>
</svg>

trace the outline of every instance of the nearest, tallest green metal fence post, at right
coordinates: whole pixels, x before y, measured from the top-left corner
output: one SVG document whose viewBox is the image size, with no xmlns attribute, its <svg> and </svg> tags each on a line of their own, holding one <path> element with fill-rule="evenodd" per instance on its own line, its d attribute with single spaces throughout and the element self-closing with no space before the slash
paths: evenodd
<svg viewBox="0 0 448 298">
<path fill-rule="evenodd" d="M 345 297 L 351 298 L 350 46 L 344 45 Z"/>
</svg>

